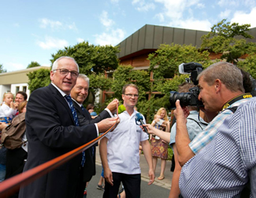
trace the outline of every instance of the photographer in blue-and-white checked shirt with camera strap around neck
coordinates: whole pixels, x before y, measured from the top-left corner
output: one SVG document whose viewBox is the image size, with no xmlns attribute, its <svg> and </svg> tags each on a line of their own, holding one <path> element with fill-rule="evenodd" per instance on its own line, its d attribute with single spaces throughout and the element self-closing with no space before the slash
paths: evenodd
<svg viewBox="0 0 256 198">
<path fill-rule="evenodd" d="M 233 64 L 210 65 L 198 75 L 198 82 L 198 100 L 206 114 L 219 114 L 190 142 L 189 112 L 176 101 L 176 148 L 180 165 L 186 163 L 180 173 L 182 196 L 238 196 L 249 178 L 256 196 L 256 100 L 243 94 L 243 77 Z"/>
</svg>

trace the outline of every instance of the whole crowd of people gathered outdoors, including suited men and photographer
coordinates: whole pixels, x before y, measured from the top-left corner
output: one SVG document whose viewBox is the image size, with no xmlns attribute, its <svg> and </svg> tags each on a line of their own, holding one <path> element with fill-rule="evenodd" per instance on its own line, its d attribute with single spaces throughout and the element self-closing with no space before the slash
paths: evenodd
<svg viewBox="0 0 256 198">
<path fill-rule="evenodd" d="M 84 145 L 116 125 L 98 145 L 22 185 L 13 197 L 84 197 L 95 175 L 96 146 L 102 160 L 97 188 L 104 191 L 104 198 L 140 196 L 140 150 L 148 164 L 148 185 L 154 182 L 158 158 L 158 180 L 165 179 L 169 146 L 175 159 L 169 197 L 254 197 L 256 99 L 247 93 L 251 86 L 246 78 L 233 64 L 212 64 L 198 75 L 198 100 L 203 107 L 181 107 L 177 100 L 173 126 L 165 108 L 158 109 L 151 124 L 143 117 L 145 124 L 139 126 L 135 123 L 138 86 L 125 85 L 123 105 L 113 99 L 95 115 L 94 105 L 83 107 L 90 79 L 79 74 L 72 57 L 60 57 L 50 71 L 50 85 L 35 90 L 29 101 L 24 92 L 18 92 L 14 101 L 11 93 L 3 97 L 2 133 L 17 120 L 26 124 L 22 144 L 0 150 L 0 181 Z M 179 92 L 192 87 L 183 83 Z"/>
</svg>

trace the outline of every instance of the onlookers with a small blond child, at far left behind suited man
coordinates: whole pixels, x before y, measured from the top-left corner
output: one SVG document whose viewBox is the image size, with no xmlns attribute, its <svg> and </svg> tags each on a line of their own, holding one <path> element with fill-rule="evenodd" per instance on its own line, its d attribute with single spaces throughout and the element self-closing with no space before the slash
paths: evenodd
<svg viewBox="0 0 256 198">
<path fill-rule="evenodd" d="M 2 105 L 0 107 L 0 131 L 1 134 L 6 131 L 6 127 L 13 127 L 20 124 L 25 119 L 27 106 L 27 94 L 18 91 L 13 102 L 13 94 L 7 92 L 3 95 Z M 21 131 L 20 144 L 13 145 L 12 148 L 6 148 L 1 145 L 0 149 L 0 181 L 11 178 L 23 171 L 24 162 L 28 156 L 28 142 L 25 133 L 25 124 Z M 18 193 L 10 197 L 17 197 Z"/>
</svg>

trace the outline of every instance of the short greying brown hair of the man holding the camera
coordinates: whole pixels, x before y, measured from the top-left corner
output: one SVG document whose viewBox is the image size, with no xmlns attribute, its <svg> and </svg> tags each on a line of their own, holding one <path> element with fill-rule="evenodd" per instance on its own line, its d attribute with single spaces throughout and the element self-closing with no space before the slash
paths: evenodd
<svg viewBox="0 0 256 198">
<path fill-rule="evenodd" d="M 228 90 L 232 92 L 242 91 L 243 89 L 243 75 L 236 65 L 227 62 L 217 62 L 211 64 L 208 68 L 204 69 L 197 79 L 203 80 L 212 86 L 216 79 L 220 79 Z"/>
</svg>

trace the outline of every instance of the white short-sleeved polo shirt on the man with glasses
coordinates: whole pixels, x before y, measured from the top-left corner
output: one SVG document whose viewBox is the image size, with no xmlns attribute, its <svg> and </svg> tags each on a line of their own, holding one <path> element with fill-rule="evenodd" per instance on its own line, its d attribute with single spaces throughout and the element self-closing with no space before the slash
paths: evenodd
<svg viewBox="0 0 256 198">
<path fill-rule="evenodd" d="M 113 132 L 106 134 L 109 139 L 107 144 L 107 159 L 112 172 L 123 174 L 140 174 L 139 167 L 139 142 L 146 141 L 148 135 L 136 125 L 135 115 L 127 111 L 119 114 L 120 123 Z M 143 117 L 143 122 L 145 118 Z"/>
</svg>

